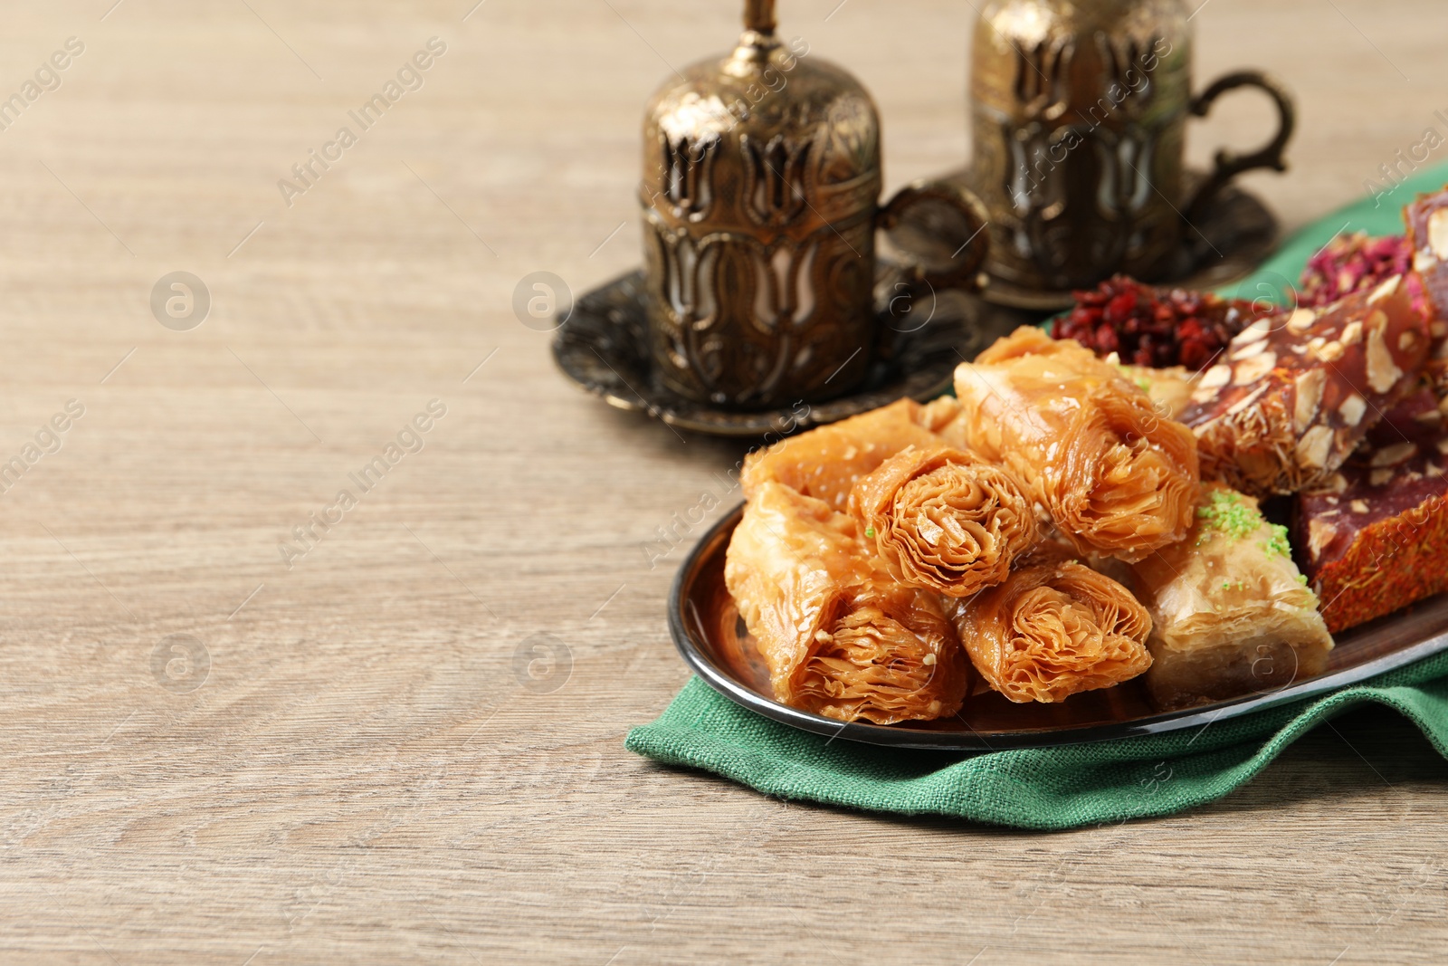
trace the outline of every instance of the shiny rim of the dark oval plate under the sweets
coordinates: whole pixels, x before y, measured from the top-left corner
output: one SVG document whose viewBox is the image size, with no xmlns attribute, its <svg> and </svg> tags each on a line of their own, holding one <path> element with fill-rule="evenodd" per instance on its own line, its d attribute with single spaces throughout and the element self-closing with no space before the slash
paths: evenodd
<svg viewBox="0 0 1448 966">
<path fill-rule="evenodd" d="M 1376 678 L 1389 671 L 1407 666 L 1425 658 L 1431 658 L 1442 650 L 1448 650 L 1448 630 L 1438 633 L 1428 640 L 1393 650 L 1373 658 L 1352 668 L 1344 668 L 1332 673 L 1318 675 L 1300 684 L 1290 684 L 1276 691 L 1247 694 L 1213 704 L 1182 708 L 1177 711 L 1163 711 L 1144 718 L 1129 721 L 1115 721 L 1109 724 L 1085 724 L 1066 728 L 1040 728 L 1032 731 L 924 731 L 918 728 L 883 724 L 869 724 L 860 721 L 835 721 L 809 711 L 791 708 L 772 697 L 762 695 L 743 684 L 734 681 L 724 669 L 718 668 L 694 640 L 685 617 L 685 605 L 691 604 L 685 597 L 689 575 L 695 574 L 699 563 L 712 546 L 724 536 L 733 533 L 744 513 L 744 503 L 738 503 L 711 526 L 694 545 L 688 556 L 679 565 L 669 587 L 669 636 L 673 646 L 683 658 L 683 662 L 704 679 L 714 691 L 724 695 L 734 704 L 754 711 L 766 718 L 788 724 L 802 731 L 844 739 L 860 744 L 876 747 L 904 747 L 937 752 L 1008 752 L 1018 749 L 1060 747 L 1067 744 L 1085 744 L 1089 742 L 1106 742 L 1128 737 L 1142 737 L 1148 734 L 1170 734 L 1186 731 L 1195 727 L 1206 727 L 1213 721 L 1229 720 L 1255 711 L 1267 711 L 1287 704 L 1295 704 L 1309 698 L 1352 686 Z M 695 608 L 696 611 L 696 608 Z M 702 621 L 699 630 L 702 631 Z M 969 724 L 966 727 L 970 727 Z"/>
</svg>

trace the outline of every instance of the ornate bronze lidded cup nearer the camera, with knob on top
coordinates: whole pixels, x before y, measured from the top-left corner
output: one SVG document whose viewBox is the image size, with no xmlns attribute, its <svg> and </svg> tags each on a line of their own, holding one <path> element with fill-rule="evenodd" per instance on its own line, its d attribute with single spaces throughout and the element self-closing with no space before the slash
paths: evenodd
<svg viewBox="0 0 1448 966">
<path fill-rule="evenodd" d="M 749 0 L 733 54 L 686 68 L 644 120 L 654 377 L 740 410 L 862 382 L 879 337 L 877 229 L 964 220 L 969 242 L 948 264 L 906 266 L 935 288 L 975 287 L 989 245 L 985 209 L 961 187 L 921 182 L 880 206 L 873 100 L 807 43 L 780 42 L 773 6 Z"/>
</svg>

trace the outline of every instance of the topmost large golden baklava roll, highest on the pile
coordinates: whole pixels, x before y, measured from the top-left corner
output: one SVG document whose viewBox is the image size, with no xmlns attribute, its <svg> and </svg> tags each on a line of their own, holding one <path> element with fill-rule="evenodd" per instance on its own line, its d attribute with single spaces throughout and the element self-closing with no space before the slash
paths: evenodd
<svg viewBox="0 0 1448 966">
<path fill-rule="evenodd" d="M 1009 468 L 1086 556 L 1138 560 L 1192 526 L 1192 432 L 1074 342 L 1018 329 L 956 369 L 941 436 Z"/>
</svg>

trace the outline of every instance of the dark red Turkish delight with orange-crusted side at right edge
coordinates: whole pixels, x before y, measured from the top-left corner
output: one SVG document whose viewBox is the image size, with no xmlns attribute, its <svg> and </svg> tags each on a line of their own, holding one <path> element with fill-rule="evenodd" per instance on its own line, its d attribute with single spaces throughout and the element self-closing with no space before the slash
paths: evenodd
<svg viewBox="0 0 1448 966">
<path fill-rule="evenodd" d="M 1297 500 L 1296 545 L 1332 631 L 1448 591 L 1448 423 L 1419 390 L 1322 487 Z"/>
</svg>

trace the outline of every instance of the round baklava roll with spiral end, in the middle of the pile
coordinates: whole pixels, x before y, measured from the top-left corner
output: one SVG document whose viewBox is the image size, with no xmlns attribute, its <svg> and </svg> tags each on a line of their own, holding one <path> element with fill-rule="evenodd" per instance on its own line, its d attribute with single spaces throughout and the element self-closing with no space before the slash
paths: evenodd
<svg viewBox="0 0 1448 966">
<path fill-rule="evenodd" d="M 1008 471 L 950 446 L 911 446 L 854 485 L 850 513 L 902 584 L 969 597 L 1002 582 L 1038 539 Z"/>
</svg>

